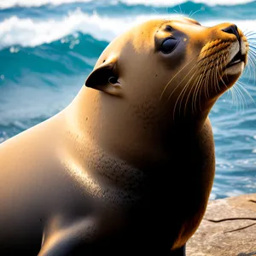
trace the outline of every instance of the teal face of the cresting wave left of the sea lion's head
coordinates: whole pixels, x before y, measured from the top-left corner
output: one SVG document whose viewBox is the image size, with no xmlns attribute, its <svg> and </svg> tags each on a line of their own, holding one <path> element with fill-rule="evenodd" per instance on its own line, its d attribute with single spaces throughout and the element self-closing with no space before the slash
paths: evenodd
<svg viewBox="0 0 256 256">
<path fill-rule="evenodd" d="M 0 50 L 0 89 L 2 84 L 48 84 L 55 87 L 55 77 L 87 75 L 108 42 L 88 34 L 75 33 L 50 44 L 22 48 L 11 46 Z M 52 74 L 55 74 L 53 76 Z M 44 74 L 44 75 L 42 75 Z M 32 77 L 35 77 L 34 80 Z M 28 81 L 23 79 L 29 78 Z M 42 79 L 38 81 L 37 79 Z M 4 93 L 5 93 L 5 89 Z M 7 90 L 7 89 L 6 89 Z M 2 93 L 2 95 L 1 95 Z M 3 91 L 0 90 L 0 107 Z M 0 109 L 1 113 L 1 109 Z M 3 115 L 3 112 L 1 113 Z"/>
</svg>

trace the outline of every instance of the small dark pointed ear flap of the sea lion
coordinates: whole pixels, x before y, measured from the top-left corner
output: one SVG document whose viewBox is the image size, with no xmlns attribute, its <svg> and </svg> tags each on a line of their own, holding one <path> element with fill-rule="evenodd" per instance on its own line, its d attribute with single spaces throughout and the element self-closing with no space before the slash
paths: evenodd
<svg viewBox="0 0 256 256">
<path fill-rule="evenodd" d="M 105 61 L 96 67 L 86 79 L 85 86 L 120 96 L 121 84 L 116 70 L 116 58 Z"/>
</svg>

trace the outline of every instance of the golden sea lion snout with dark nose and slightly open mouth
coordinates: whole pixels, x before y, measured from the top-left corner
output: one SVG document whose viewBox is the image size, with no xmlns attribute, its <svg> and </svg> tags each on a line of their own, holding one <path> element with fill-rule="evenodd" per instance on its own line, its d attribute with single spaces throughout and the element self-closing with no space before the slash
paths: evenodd
<svg viewBox="0 0 256 256">
<path fill-rule="evenodd" d="M 247 64 L 248 43 L 243 32 L 233 23 L 209 27 L 207 32 L 208 41 L 201 49 L 199 61 L 201 66 L 207 66 L 212 73 L 218 74 L 218 83 L 210 85 L 211 88 L 217 85 L 215 91 L 218 93 L 214 90 L 211 93 L 214 97 L 220 96 L 239 79 Z"/>
</svg>

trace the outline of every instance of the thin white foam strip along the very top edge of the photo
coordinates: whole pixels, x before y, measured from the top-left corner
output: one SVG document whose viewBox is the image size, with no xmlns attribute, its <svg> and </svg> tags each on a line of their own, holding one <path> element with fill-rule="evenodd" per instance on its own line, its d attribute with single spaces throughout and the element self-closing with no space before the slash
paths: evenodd
<svg viewBox="0 0 256 256">
<path fill-rule="evenodd" d="M 15 6 L 20 7 L 35 7 L 35 6 L 42 6 L 45 4 L 52 4 L 52 5 L 61 5 L 65 3 L 92 3 L 91 0 L 2 0 L 0 2 L 0 9 L 9 9 L 13 8 Z M 105 3 L 107 1 L 99 1 L 101 3 Z M 165 6 L 165 7 L 171 7 L 175 6 L 177 4 L 186 3 L 188 1 L 184 0 L 110 0 L 108 1 L 108 4 L 118 4 L 118 3 L 126 3 L 130 5 L 136 5 L 136 4 L 143 4 L 143 5 L 152 5 L 152 6 Z M 242 4 L 242 3 L 251 3 L 253 0 L 193 0 L 194 3 L 206 3 L 208 5 L 236 5 L 236 4 Z"/>
</svg>

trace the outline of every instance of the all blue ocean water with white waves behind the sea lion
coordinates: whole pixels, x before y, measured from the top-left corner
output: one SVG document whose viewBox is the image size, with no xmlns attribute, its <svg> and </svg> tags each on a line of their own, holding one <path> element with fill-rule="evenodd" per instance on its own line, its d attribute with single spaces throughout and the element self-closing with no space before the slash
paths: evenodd
<svg viewBox="0 0 256 256">
<path fill-rule="evenodd" d="M 0 0 L 0 143 L 65 108 L 119 33 L 180 15 L 256 32 L 256 1 Z M 217 157 L 212 199 L 256 193 L 255 102 L 251 65 L 210 113 Z"/>
</svg>

